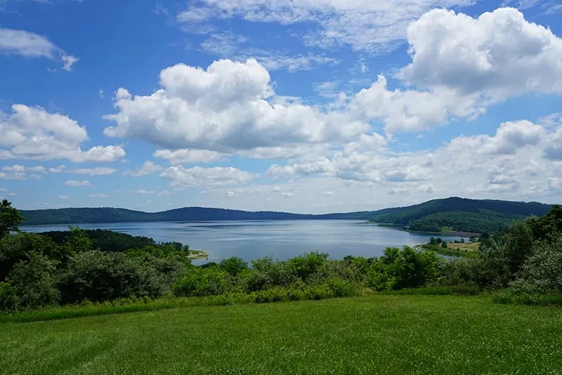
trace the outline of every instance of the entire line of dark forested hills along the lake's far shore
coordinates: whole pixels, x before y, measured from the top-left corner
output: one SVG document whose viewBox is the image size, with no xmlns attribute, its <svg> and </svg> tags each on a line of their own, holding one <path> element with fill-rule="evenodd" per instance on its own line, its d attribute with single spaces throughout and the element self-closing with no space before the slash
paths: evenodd
<svg viewBox="0 0 562 375">
<path fill-rule="evenodd" d="M 378 211 L 308 215 L 275 211 L 240 211 L 207 207 L 185 207 L 161 212 L 129 209 L 77 208 L 21 211 L 23 225 L 125 223 L 148 221 L 244 221 L 244 220 L 372 220 L 409 230 L 439 232 L 443 228 L 464 232 L 495 232 L 514 220 L 542 216 L 551 205 L 451 197 L 407 207 Z"/>
</svg>

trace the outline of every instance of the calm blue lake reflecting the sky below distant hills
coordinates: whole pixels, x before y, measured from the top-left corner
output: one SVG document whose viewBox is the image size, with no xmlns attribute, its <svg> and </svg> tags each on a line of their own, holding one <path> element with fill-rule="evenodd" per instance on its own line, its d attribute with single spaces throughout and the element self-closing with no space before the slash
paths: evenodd
<svg viewBox="0 0 562 375">
<path fill-rule="evenodd" d="M 199 223 L 82 224 L 84 229 L 108 229 L 176 241 L 209 253 L 209 261 L 238 256 L 245 261 L 273 256 L 287 259 L 308 251 L 324 251 L 333 259 L 380 256 L 388 246 L 424 244 L 430 235 L 408 233 L 365 221 L 214 221 Z M 67 225 L 22 227 L 27 232 L 67 230 Z M 443 237 L 449 241 L 459 237 Z M 205 263 L 195 261 L 194 263 Z"/>
</svg>

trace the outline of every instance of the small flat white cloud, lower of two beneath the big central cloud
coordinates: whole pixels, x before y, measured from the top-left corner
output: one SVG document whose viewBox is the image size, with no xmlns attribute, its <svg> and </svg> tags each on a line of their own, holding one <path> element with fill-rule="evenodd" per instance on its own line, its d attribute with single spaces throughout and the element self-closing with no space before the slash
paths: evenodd
<svg viewBox="0 0 562 375">
<path fill-rule="evenodd" d="M 255 178 L 253 174 L 247 171 L 218 166 L 213 168 L 171 166 L 160 176 L 171 180 L 170 185 L 178 189 L 190 186 L 236 185 L 237 183 L 247 183 Z"/>
</svg>

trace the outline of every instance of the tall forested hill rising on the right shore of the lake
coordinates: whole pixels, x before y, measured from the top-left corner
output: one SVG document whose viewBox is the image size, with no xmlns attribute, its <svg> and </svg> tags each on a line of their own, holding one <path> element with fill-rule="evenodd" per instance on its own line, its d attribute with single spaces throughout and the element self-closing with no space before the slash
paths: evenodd
<svg viewBox="0 0 562 375">
<path fill-rule="evenodd" d="M 435 199 L 391 212 L 375 213 L 376 223 L 398 225 L 420 232 L 497 232 L 518 219 L 543 216 L 551 204 L 451 197 Z"/>
</svg>

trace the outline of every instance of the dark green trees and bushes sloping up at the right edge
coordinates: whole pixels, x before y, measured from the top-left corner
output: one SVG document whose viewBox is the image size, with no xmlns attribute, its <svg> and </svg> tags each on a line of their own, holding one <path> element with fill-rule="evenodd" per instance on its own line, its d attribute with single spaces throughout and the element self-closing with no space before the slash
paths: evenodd
<svg viewBox="0 0 562 375">
<path fill-rule="evenodd" d="M 443 285 L 507 288 L 514 294 L 562 294 L 562 207 L 481 238 L 480 256 L 447 262 Z"/>
</svg>

